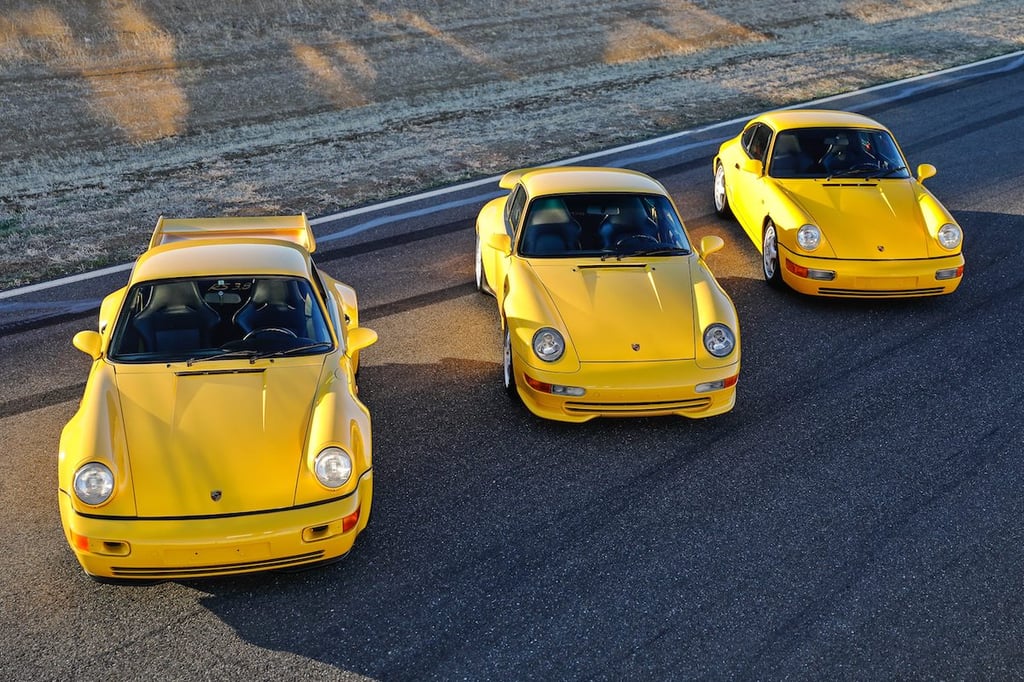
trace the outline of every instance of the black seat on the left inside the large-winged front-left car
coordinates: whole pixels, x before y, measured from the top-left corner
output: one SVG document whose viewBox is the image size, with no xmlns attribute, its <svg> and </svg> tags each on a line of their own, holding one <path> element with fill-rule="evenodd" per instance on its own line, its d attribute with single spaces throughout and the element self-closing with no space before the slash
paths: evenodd
<svg viewBox="0 0 1024 682">
<path fill-rule="evenodd" d="M 210 333 L 219 322 L 195 282 L 170 282 L 154 285 L 150 302 L 132 326 L 146 352 L 175 352 L 209 347 Z"/>
</svg>

